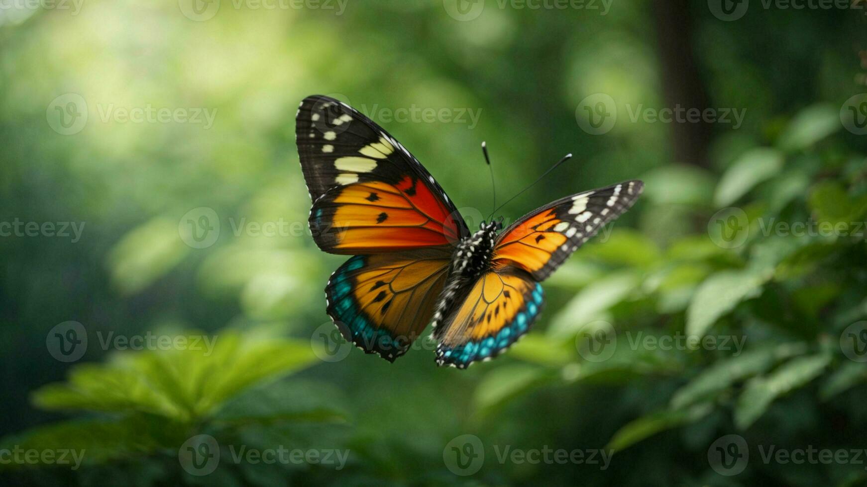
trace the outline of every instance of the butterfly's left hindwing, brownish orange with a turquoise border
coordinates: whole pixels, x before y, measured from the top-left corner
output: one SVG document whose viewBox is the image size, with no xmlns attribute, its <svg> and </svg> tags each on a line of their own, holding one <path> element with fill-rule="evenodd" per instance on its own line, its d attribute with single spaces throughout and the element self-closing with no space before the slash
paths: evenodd
<svg viewBox="0 0 867 487">
<path fill-rule="evenodd" d="M 328 314 L 347 340 L 394 362 L 430 321 L 450 259 L 450 247 L 356 255 L 329 279 Z"/>
</svg>

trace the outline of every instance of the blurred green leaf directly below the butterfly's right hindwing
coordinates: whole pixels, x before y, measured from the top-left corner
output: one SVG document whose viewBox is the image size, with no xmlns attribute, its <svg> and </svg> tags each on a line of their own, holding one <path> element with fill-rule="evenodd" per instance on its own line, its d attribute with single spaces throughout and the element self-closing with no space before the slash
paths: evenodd
<svg viewBox="0 0 867 487">
<path fill-rule="evenodd" d="M 550 369 L 526 364 L 494 368 L 479 381 L 473 393 L 473 410 L 486 416 L 525 391 L 555 378 Z"/>
</svg>

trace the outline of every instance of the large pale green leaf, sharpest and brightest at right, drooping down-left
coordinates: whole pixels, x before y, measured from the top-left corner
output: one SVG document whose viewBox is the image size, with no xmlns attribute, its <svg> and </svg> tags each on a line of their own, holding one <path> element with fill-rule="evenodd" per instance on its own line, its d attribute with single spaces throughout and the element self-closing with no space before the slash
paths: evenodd
<svg viewBox="0 0 867 487">
<path fill-rule="evenodd" d="M 770 274 L 750 270 L 717 272 L 699 285 L 687 310 L 687 335 L 704 336 L 717 319 L 741 301 L 759 296 Z"/>
</svg>

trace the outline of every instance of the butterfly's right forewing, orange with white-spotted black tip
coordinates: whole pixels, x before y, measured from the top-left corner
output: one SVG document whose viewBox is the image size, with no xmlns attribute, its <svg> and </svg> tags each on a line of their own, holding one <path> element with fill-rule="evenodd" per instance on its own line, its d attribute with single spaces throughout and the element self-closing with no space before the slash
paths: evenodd
<svg viewBox="0 0 867 487">
<path fill-rule="evenodd" d="M 492 255 L 495 268 L 515 266 L 533 279 L 547 279 L 606 223 L 623 215 L 644 183 L 627 181 L 551 202 L 507 227 Z"/>
</svg>

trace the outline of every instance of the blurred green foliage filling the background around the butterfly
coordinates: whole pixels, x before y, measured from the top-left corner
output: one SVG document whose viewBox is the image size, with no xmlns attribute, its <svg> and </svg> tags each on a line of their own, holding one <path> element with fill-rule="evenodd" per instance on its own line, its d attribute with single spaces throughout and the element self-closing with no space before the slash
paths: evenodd
<svg viewBox="0 0 867 487">
<path fill-rule="evenodd" d="M 673 160 L 670 126 L 629 120 L 628 106 L 666 106 L 654 3 L 614 3 L 605 16 L 491 3 L 472 22 L 440 2 L 350 2 L 340 16 L 224 2 L 204 22 L 180 5 L 0 10 L 0 220 L 85 223 L 77 242 L 0 238 L 0 448 L 86 451 L 77 471 L 0 465 L 10 482 L 445 484 L 460 477 L 444 447 L 468 433 L 487 459 L 467 484 L 867 483 L 864 465 L 764 463 L 754 448 L 865 446 L 867 366 L 841 340 L 867 319 L 867 144 L 838 110 L 864 91 L 857 10 L 754 8 L 721 22 L 694 5 L 708 98 L 746 109 L 738 129 L 713 127 L 702 167 Z M 65 93 L 88 107 L 71 135 L 46 122 Z M 627 178 L 646 191 L 546 281 L 538 324 L 495 361 L 458 371 L 435 368 L 430 349 L 394 364 L 352 349 L 323 362 L 322 289 L 343 259 L 318 251 L 304 225 L 293 119 L 313 93 L 374 119 L 382 108 L 480 110 L 472 128 L 382 124 L 471 225 L 490 201 L 481 140 L 501 195 L 568 151 L 580 161 L 507 205 L 510 220 Z M 601 136 L 575 119 L 591 93 L 617 100 L 619 121 Z M 145 106 L 215 116 L 207 128 L 106 117 Z M 202 248 L 185 239 L 197 208 L 220 225 Z M 286 227 L 268 236 L 251 222 Z M 837 230 L 796 234 L 797 222 Z M 90 337 L 72 364 L 46 350 L 68 320 Z M 205 333 L 214 347 L 112 351 L 97 339 L 150 331 Z M 634 345 L 677 336 L 743 348 Z M 198 477 L 179 449 L 200 434 L 222 458 L 226 445 L 285 445 L 346 449 L 349 461 L 224 461 Z M 708 465 L 728 434 L 752 453 L 733 477 Z M 500 464 L 498 445 L 616 453 L 606 470 Z"/>
</svg>

